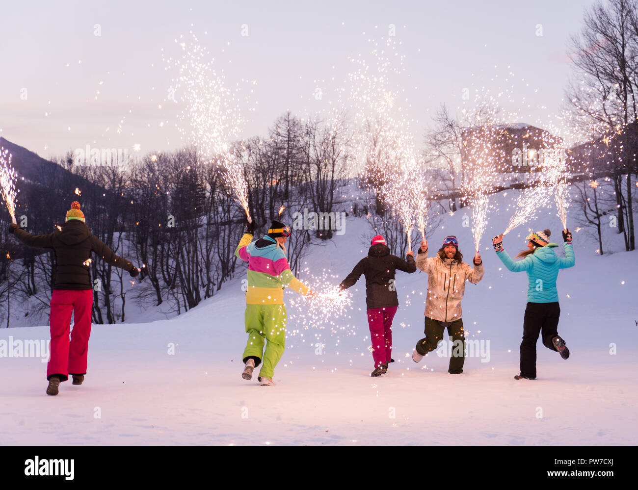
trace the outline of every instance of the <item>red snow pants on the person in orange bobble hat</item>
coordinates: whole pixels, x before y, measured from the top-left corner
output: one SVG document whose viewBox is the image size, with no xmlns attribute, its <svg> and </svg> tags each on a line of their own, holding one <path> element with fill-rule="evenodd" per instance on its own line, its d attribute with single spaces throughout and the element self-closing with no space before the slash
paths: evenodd
<svg viewBox="0 0 638 490">
<path fill-rule="evenodd" d="M 54 289 L 51 295 L 51 358 L 47 364 L 47 380 L 59 376 L 66 381 L 69 375 L 85 375 L 89 336 L 91 336 L 91 308 L 93 290 Z M 71 312 L 74 320 L 69 342 Z"/>
</svg>

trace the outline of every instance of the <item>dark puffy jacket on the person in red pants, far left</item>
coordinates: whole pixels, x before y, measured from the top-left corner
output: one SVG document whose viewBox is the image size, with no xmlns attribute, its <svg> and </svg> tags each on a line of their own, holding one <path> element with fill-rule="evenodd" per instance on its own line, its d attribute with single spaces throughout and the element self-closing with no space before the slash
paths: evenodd
<svg viewBox="0 0 638 490">
<path fill-rule="evenodd" d="M 34 248 L 52 248 L 56 253 L 54 289 L 93 289 L 89 258 L 95 252 L 108 264 L 132 271 L 133 264 L 115 255 L 108 246 L 91 234 L 89 227 L 78 219 L 70 219 L 61 231 L 48 235 L 31 235 L 16 228 L 13 234 L 25 245 Z"/>
</svg>

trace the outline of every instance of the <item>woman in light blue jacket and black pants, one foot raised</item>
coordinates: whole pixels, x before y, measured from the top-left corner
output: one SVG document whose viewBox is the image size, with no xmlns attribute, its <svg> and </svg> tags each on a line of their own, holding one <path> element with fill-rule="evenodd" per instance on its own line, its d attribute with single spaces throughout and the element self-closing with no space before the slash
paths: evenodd
<svg viewBox="0 0 638 490">
<path fill-rule="evenodd" d="M 563 230 L 565 242 L 565 258 L 559 257 L 553 251 L 557 244 L 549 242 L 549 230 L 532 232 L 526 237 L 528 249 L 519 253 L 516 258 L 523 260 L 514 262 L 503 250 L 503 235 L 492 239 L 496 255 L 512 272 L 527 272 L 529 285 L 527 290 L 527 308 L 523 320 L 523 342 L 521 342 L 521 374 L 514 376 L 516 380 L 536 379 L 536 341 L 542 332 L 543 344 L 551 350 L 560 353 L 563 359 L 569 357 L 569 350 L 565 341 L 558 335 L 558 291 L 556 278 L 560 269 L 574 267 L 574 248 L 572 248 L 572 233 Z"/>
</svg>

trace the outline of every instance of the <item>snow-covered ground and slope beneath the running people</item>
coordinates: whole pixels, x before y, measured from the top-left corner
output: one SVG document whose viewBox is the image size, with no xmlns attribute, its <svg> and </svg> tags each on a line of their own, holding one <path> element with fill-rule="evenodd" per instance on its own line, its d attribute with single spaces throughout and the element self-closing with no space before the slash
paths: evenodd
<svg viewBox="0 0 638 490">
<path fill-rule="evenodd" d="M 295 315 L 303 301 L 286 292 L 289 336 L 276 369 L 276 387 L 242 380 L 244 297 L 241 277 L 188 313 L 152 323 L 93 325 L 84 385 L 63 383 L 45 394 L 46 365 L 38 357 L 0 357 L 0 443 L 5 445 L 142 444 L 419 444 L 632 445 L 638 442 L 635 373 L 638 336 L 638 252 L 598 256 L 594 237 L 574 233 L 576 265 L 561 271 L 558 331 L 571 356 L 538 343 L 538 380 L 516 381 L 527 279 L 502 267 L 491 237 L 505 228 L 515 193 L 499 197 L 482 240 L 486 275 L 468 284 L 463 319 L 468 340 L 483 350 L 466 359 L 463 375 L 447 373 L 448 358 L 410 359 L 423 336 L 422 272 L 397 272 L 401 307 L 394 320 L 387 375 L 369 377 L 365 281 L 353 292 L 350 318 L 339 328 L 303 329 Z M 466 209 L 445 216 L 431 250 L 456 234 L 471 261 Z M 528 226 L 551 228 L 562 244 L 560 221 L 543 211 L 537 221 L 505 236 L 510 255 L 524 248 Z M 576 228 L 575 223 L 568 224 Z M 619 250 L 614 229 L 605 230 Z M 345 234 L 315 246 L 308 266 L 329 269 L 338 283 L 366 255 L 373 234 L 348 218 Z M 562 246 L 558 249 L 562 253 Z M 300 276 L 300 279 L 304 279 Z M 355 290 L 356 288 L 356 290 Z M 295 318 L 292 318 L 295 316 Z M 329 325 L 328 325 L 329 326 Z M 12 338 L 48 339 L 48 327 L 0 330 Z M 489 341 L 489 350 L 488 350 Z M 171 347 L 174 345 L 174 348 Z M 174 353 L 172 350 L 174 349 Z M 489 355 L 488 355 L 489 354 Z M 483 362 L 482 362 L 483 361 Z"/>
</svg>

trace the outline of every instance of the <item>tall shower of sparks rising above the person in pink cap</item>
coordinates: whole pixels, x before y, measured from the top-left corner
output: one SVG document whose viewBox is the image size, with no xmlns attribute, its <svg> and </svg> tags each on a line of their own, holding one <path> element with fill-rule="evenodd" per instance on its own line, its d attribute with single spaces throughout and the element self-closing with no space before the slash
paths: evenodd
<svg viewBox="0 0 638 490">
<path fill-rule="evenodd" d="M 361 55 L 351 59 L 354 70 L 347 79 L 347 103 L 355 114 L 355 159 L 378 199 L 399 219 L 411 250 L 415 222 L 425 234 L 429 191 L 416 157 L 414 121 L 406 117 L 410 104 L 400 83 L 404 56 L 390 38 L 371 42 L 372 62 Z"/>
</svg>

